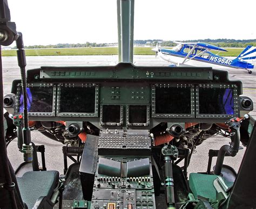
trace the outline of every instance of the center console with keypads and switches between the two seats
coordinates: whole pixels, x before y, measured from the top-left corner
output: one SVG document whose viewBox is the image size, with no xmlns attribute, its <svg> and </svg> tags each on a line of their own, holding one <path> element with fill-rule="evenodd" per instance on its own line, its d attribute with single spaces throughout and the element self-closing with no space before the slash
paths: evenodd
<svg viewBox="0 0 256 209">
<path fill-rule="evenodd" d="M 100 133 L 91 208 L 156 208 L 151 145 L 148 130 Z"/>
</svg>

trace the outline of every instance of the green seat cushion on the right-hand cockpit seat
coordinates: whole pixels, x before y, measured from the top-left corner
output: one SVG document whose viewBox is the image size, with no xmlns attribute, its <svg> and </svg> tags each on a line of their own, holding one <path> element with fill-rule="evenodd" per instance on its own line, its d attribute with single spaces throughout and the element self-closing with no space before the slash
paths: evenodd
<svg viewBox="0 0 256 209">
<path fill-rule="evenodd" d="M 217 175 L 190 173 L 189 185 L 194 197 L 197 198 L 198 195 L 200 195 L 205 198 L 216 199 L 216 190 L 213 186 L 213 181 L 217 179 L 217 177 Z M 233 185 L 233 182 L 226 181 L 225 179 L 224 182 L 227 187 Z"/>
</svg>

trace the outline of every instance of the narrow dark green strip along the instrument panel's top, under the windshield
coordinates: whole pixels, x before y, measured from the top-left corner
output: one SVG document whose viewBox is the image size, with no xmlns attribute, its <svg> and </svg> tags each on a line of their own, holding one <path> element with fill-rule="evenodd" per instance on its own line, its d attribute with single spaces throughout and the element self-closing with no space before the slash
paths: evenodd
<svg viewBox="0 0 256 209">
<path fill-rule="evenodd" d="M 47 69 L 47 68 L 46 68 Z M 212 80 L 212 71 L 205 69 L 188 68 L 118 68 L 110 66 L 108 68 L 52 68 L 41 70 L 40 78 L 64 79 L 189 79 L 189 80 Z"/>
</svg>

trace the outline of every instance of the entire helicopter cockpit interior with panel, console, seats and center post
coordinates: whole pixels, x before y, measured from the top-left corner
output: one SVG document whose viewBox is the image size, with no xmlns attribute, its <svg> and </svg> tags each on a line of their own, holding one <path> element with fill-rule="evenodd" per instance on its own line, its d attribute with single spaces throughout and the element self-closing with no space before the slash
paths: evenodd
<svg viewBox="0 0 256 209">
<path fill-rule="evenodd" d="M 5 21 L 1 16 L 0 43 L 16 41 L 22 75 L 1 97 L 8 125 L 4 145 L 17 137 L 24 164 L 13 172 L 5 159 L 8 169 L 2 170 L 1 179 L 9 173 L 9 181 L 7 186 L 0 182 L 4 194 L 0 208 L 255 206 L 255 187 L 244 192 L 246 179 L 255 173 L 248 172 L 255 161 L 253 101 L 241 96 L 239 80 L 212 68 L 133 65 L 133 29 L 123 27 L 132 25 L 132 0 L 117 1 L 122 62 L 26 71 L 22 33 L 12 30 L 7 1 L 2 2 L 7 15 Z M 63 173 L 46 171 L 44 146 L 33 144 L 31 129 L 63 144 L 63 153 L 56 153 L 63 154 Z M 216 134 L 230 138 L 230 144 L 220 144 L 219 150 L 208 147 L 208 167 L 188 173 L 194 148 Z M 247 150 L 236 173 L 223 162 L 239 152 L 240 142 Z M 217 157 L 214 168 L 213 157 Z M 68 165 L 68 158 L 73 164 Z M 25 172 L 26 163 L 33 171 Z M 19 172 L 23 177 L 16 178 Z"/>
</svg>

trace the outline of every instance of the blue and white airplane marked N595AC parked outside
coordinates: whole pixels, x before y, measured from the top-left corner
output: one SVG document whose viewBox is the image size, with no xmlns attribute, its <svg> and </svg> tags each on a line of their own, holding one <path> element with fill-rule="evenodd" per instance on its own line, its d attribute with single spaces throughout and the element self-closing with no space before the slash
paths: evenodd
<svg viewBox="0 0 256 209">
<path fill-rule="evenodd" d="M 256 64 L 256 47 L 247 46 L 240 55 L 235 59 L 228 59 L 215 55 L 211 50 L 227 51 L 218 46 L 206 43 L 180 43 L 173 49 L 160 49 L 158 43 L 156 48 L 156 56 L 176 66 L 210 66 L 214 69 L 245 69 L 248 73 L 252 73 Z"/>
</svg>

